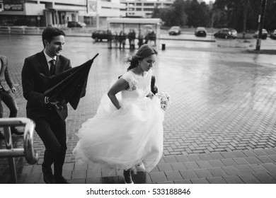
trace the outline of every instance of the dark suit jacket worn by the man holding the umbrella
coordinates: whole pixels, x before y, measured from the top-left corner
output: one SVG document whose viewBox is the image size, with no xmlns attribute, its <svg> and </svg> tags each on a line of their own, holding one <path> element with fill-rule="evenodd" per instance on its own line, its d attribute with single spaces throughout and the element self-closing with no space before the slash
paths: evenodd
<svg viewBox="0 0 276 198">
<path fill-rule="evenodd" d="M 71 68 L 71 62 L 62 55 L 57 57 L 55 74 Z M 54 105 L 45 104 L 44 92 L 48 89 L 43 82 L 43 77 L 50 76 L 49 66 L 44 52 L 39 52 L 25 59 L 21 72 L 23 96 L 27 100 L 27 117 L 36 121 L 41 117 L 47 117 Z M 57 113 L 65 120 L 68 115 L 67 104 L 62 102 L 62 110 Z"/>
</svg>

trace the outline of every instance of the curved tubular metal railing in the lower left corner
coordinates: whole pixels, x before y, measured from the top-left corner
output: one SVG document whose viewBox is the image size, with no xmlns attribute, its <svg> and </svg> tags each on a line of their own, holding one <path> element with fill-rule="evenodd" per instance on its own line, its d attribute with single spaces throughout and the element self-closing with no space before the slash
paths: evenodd
<svg viewBox="0 0 276 198">
<path fill-rule="evenodd" d="M 12 126 L 24 126 L 23 148 L 13 148 L 11 139 Z M 8 158 L 8 165 L 11 173 L 11 180 L 17 183 L 15 157 L 25 156 L 29 164 L 38 162 L 38 153 L 33 148 L 33 133 L 35 131 L 35 122 L 25 117 L 1 118 L 0 127 L 4 127 L 4 136 L 6 141 L 6 149 L 0 149 L 0 158 Z"/>
</svg>

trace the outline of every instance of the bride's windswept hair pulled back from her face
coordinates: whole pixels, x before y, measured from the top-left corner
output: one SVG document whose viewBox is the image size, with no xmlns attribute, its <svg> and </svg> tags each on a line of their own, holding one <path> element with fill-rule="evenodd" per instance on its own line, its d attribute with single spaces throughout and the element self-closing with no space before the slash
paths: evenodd
<svg viewBox="0 0 276 198">
<path fill-rule="evenodd" d="M 146 57 L 149 57 L 151 54 L 156 54 L 157 55 L 156 49 L 154 47 L 152 47 L 151 45 L 148 45 L 148 44 L 142 45 L 139 48 L 139 50 L 136 52 L 136 54 L 134 54 L 134 56 L 131 59 L 128 58 L 126 60 L 126 62 L 130 64 L 130 66 L 127 68 L 127 71 L 137 67 L 140 60 L 142 60 Z"/>
</svg>

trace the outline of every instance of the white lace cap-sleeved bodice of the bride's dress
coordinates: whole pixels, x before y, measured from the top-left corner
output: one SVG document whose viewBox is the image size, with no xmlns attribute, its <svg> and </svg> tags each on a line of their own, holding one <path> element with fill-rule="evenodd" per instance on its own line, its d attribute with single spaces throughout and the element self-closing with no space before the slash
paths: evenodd
<svg viewBox="0 0 276 198">
<path fill-rule="evenodd" d="M 121 78 L 124 78 L 130 87 L 127 90 L 122 91 L 122 98 L 144 98 L 151 91 L 151 69 L 139 76 L 134 74 L 132 70 L 127 71 Z"/>
</svg>

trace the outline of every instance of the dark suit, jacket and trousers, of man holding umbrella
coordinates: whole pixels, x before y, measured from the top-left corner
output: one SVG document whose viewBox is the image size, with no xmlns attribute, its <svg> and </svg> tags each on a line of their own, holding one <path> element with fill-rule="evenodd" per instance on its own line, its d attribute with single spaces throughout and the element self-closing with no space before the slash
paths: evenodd
<svg viewBox="0 0 276 198">
<path fill-rule="evenodd" d="M 55 74 L 71 68 L 71 62 L 62 55 L 57 56 Z M 42 170 L 50 170 L 54 163 L 54 177 L 62 176 L 66 144 L 67 105 L 62 103 L 63 109 L 58 112 L 54 105 L 45 103 L 43 94 L 47 87 L 43 83 L 43 77 L 50 76 L 49 66 L 44 52 L 39 52 L 25 59 L 22 69 L 23 96 L 27 102 L 27 117 L 35 121 L 35 131 L 45 144 L 44 162 Z"/>
</svg>

